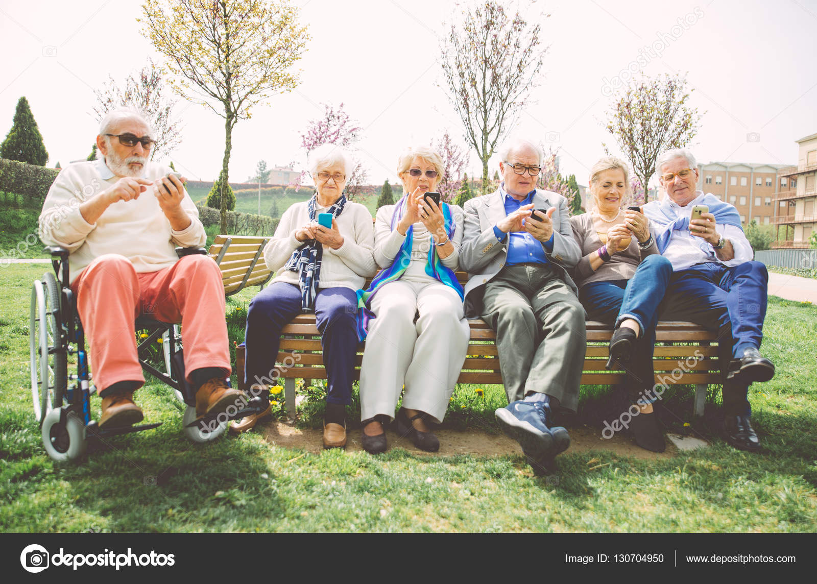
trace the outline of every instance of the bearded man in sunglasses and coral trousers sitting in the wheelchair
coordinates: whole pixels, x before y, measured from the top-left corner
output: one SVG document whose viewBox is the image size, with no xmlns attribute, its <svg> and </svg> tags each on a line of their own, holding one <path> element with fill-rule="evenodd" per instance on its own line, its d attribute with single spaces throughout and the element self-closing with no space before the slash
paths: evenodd
<svg viewBox="0 0 817 584">
<path fill-rule="evenodd" d="M 134 339 L 139 314 L 181 320 L 196 414 L 224 412 L 241 392 L 225 381 L 230 350 L 221 272 L 208 256 L 180 259 L 175 251 L 205 243 L 198 209 L 170 168 L 149 161 L 153 132 L 141 114 L 107 114 L 96 145 L 100 159 L 74 163 L 57 176 L 39 224 L 44 243 L 70 254 L 70 285 L 102 398 L 100 428 L 143 417 L 133 402 L 145 383 Z"/>
</svg>

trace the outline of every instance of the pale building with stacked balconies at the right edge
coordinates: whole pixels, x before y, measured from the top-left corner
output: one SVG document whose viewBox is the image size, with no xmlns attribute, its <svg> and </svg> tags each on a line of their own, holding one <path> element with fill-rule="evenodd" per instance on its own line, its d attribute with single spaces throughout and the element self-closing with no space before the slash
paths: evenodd
<svg viewBox="0 0 817 584">
<path fill-rule="evenodd" d="M 777 238 L 772 243 L 775 249 L 809 247 L 811 234 L 817 231 L 817 134 L 797 140 L 797 145 L 797 166 L 779 171 L 780 184 L 775 193 Z"/>
</svg>

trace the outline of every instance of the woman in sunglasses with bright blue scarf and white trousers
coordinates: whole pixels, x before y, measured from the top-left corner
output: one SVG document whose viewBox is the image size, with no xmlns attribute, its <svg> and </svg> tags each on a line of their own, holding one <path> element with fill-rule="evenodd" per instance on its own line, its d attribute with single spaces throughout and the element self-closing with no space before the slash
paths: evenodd
<svg viewBox="0 0 817 584">
<path fill-rule="evenodd" d="M 386 423 L 417 448 L 435 452 L 429 422 L 441 422 L 465 360 L 470 331 L 462 314 L 462 286 L 454 271 L 462 241 L 462 209 L 435 203 L 443 161 L 419 147 L 400 155 L 403 197 L 377 210 L 374 258 L 382 270 L 358 291 L 361 442 L 367 452 L 387 448 Z"/>
</svg>

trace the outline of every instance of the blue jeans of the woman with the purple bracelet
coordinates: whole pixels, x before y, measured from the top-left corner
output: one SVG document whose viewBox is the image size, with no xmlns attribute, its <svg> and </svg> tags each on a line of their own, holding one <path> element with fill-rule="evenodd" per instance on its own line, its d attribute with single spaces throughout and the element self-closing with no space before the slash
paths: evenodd
<svg viewBox="0 0 817 584">
<path fill-rule="evenodd" d="M 623 320 L 634 319 L 641 327 L 627 368 L 627 390 L 631 396 L 653 386 L 655 324 L 671 276 L 670 261 L 652 254 L 641 261 L 631 279 L 587 283 L 578 293 L 590 318 L 614 324 L 615 328 Z"/>
</svg>

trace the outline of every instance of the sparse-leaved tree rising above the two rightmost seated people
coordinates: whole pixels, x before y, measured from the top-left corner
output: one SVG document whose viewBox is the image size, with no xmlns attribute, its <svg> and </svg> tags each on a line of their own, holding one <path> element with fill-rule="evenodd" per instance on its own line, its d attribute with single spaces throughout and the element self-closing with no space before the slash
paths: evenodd
<svg viewBox="0 0 817 584">
<path fill-rule="evenodd" d="M 649 198 L 646 187 L 659 154 L 690 145 L 698 133 L 703 114 L 687 105 L 692 91 L 685 75 L 650 78 L 642 74 L 614 96 L 607 112 L 605 129 L 629 159 L 633 173 L 645 188 L 645 203 Z M 610 154 L 607 145 L 604 142 L 601 145 Z"/>
</svg>

